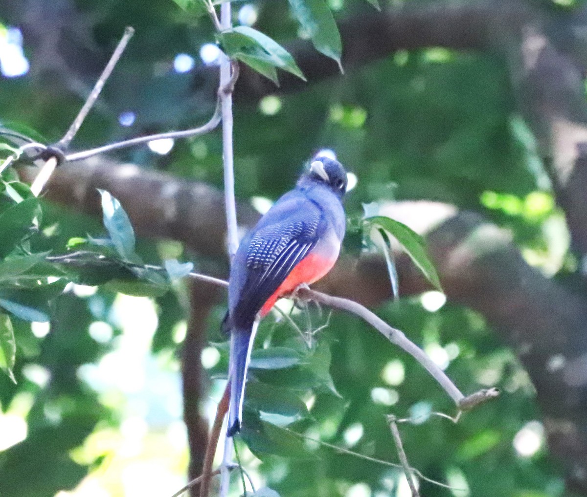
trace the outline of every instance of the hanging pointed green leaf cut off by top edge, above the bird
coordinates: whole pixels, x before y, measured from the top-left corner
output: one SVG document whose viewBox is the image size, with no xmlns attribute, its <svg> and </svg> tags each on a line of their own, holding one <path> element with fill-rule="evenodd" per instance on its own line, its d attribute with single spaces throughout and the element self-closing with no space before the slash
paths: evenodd
<svg viewBox="0 0 587 497">
<path fill-rule="evenodd" d="M 342 72 L 342 42 L 336 22 L 324 0 L 289 0 L 292 12 L 318 52 L 336 60 Z"/>
</svg>

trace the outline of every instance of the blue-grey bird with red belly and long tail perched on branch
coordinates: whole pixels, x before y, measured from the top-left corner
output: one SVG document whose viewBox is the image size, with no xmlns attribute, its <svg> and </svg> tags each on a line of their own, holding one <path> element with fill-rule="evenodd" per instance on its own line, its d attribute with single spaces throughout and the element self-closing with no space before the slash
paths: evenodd
<svg viewBox="0 0 587 497">
<path fill-rule="evenodd" d="M 345 236 L 345 168 L 328 156 L 311 159 L 294 189 L 279 198 L 245 236 L 228 281 L 230 402 L 227 436 L 238 433 L 247 370 L 259 320 L 301 284 L 312 284 L 335 264 Z"/>
</svg>

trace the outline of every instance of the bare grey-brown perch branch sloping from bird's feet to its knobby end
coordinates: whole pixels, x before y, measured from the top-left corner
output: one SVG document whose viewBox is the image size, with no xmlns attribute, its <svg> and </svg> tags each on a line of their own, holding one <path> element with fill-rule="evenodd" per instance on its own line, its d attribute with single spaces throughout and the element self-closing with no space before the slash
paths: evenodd
<svg viewBox="0 0 587 497">
<path fill-rule="evenodd" d="M 311 290 L 308 287 L 299 287 L 295 291 L 295 297 L 321 302 L 322 304 L 328 305 L 330 307 L 352 312 L 360 318 L 365 319 L 366 322 L 372 325 L 373 328 L 376 328 L 390 342 L 395 343 L 400 348 L 404 349 L 422 366 L 424 366 L 430 375 L 432 375 L 432 377 L 438 383 L 440 383 L 440 386 L 443 387 L 445 392 L 448 393 L 457 406 L 460 407 L 460 402 L 465 398 L 465 396 L 460 392 L 460 390 L 458 390 L 454 383 L 451 382 L 450 378 L 444 374 L 443 370 L 441 370 L 440 367 L 438 367 L 422 349 L 411 342 L 402 331 L 396 328 L 392 328 L 392 326 L 388 325 L 385 321 L 383 321 L 383 319 L 373 314 L 373 312 L 369 311 L 369 309 L 366 307 L 363 307 L 357 302 L 346 298 L 332 297 L 331 295 L 326 295 L 322 292 Z"/>
</svg>

